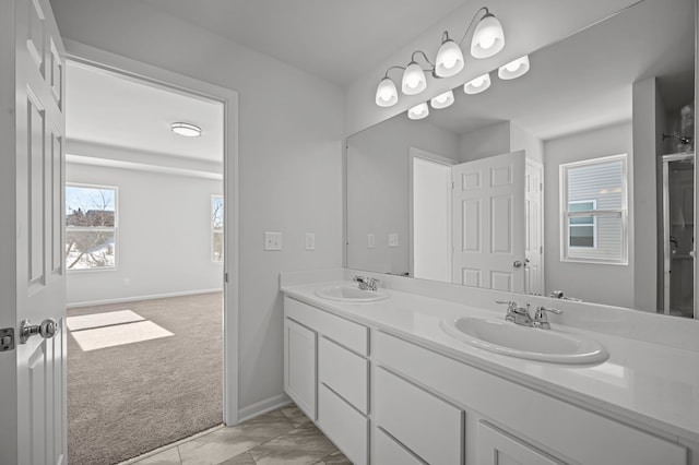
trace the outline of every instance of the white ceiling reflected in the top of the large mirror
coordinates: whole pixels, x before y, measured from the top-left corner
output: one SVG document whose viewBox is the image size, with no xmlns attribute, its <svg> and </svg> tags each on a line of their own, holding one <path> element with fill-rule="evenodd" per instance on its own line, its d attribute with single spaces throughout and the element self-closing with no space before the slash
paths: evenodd
<svg viewBox="0 0 699 465">
<path fill-rule="evenodd" d="M 454 90 L 455 103 L 427 119 L 457 133 L 512 121 L 549 140 L 631 119 L 631 83 L 660 76 L 665 107 L 694 95 L 694 1 L 645 1 L 530 55 L 514 81 L 490 73 L 478 95 Z"/>
</svg>

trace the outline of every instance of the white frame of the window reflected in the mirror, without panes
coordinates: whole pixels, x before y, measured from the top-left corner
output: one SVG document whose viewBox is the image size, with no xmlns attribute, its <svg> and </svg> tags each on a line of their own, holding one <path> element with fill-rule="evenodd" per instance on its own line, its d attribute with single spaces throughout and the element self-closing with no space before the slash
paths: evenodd
<svg viewBox="0 0 699 465">
<path fill-rule="evenodd" d="M 621 162 L 621 207 L 618 210 L 597 210 L 596 202 L 594 204 L 595 210 L 583 212 L 569 212 L 568 205 L 570 203 L 578 203 L 576 201 L 570 202 L 568 200 L 568 170 L 570 168 L 580 168 L 589 165 L 599 165 L 603 163 Z M 559 165 L 559 216 L 560 216 L 560 261 L 572 263 L 599 263 L 599 264 L 612 264 L 612 265 L 628 265 L 628 249 L 629 249 L 629 225 L 628 225 L 628 155 L 611 155 L 599 158 L 590 158 L 581 162 L 566 163 Z M 587 201 L 590 202 L 590 201 Z M 569 250 L 590 250 L 587 247 L 570 247 L 570 228 L 569 219 L 572 217 L 588 217 L 594 218 L 594 245 L 597 247 L 597 231 L 596 231 L 596 217 L 602 216 L 617 216 L 621 218 L 621 255 L 619 259 L 593 259 L 593 258 L 580 258 L 570 257 Z"/>
</svg>

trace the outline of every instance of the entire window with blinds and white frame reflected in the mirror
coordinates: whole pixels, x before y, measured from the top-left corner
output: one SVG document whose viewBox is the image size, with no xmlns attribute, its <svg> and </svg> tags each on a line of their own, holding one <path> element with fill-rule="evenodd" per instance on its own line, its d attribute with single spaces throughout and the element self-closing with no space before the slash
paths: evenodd
<svg viewBox="0 0 699 465">
<path fill-rule="evenodd" d="M 560 165 L 562 261 L 628 263 L 626 158 Z"/>
</svg>

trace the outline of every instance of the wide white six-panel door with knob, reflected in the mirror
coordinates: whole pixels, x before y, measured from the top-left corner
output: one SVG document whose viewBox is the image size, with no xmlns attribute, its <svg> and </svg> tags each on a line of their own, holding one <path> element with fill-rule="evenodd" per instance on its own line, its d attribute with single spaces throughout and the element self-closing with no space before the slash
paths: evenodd
<svg viewBox="0 0 699 465">
<path fill-rule="evenodd" d="M 452 168 L 453 282 L 524 291 L 524 152 Z"/>
</svg>

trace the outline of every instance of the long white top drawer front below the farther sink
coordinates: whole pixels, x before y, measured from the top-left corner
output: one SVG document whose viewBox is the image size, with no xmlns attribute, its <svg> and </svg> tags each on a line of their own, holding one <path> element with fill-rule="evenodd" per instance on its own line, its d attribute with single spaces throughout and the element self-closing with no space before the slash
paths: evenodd
<svg viewBox="0 0 699 465">
<path fill-rule="evenodd" d="M 284 297 L 284 312 L 287 318 L 312 327 L 337 344 L 359 355 L 369 355 L 368 327 L 299 302 L 291 297 Z"/>
</svg>

